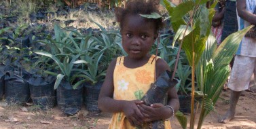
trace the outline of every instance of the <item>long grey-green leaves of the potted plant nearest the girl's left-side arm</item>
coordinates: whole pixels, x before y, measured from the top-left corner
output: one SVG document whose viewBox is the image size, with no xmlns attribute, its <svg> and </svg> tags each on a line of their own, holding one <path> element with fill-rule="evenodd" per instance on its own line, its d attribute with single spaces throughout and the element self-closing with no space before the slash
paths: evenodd
<svg viewBox="0 0 256 129">
<path fill-rule="evenodd" d="M 72 32 L 77 34 L 77 37 L 72 41 L 73 45 L 76 46 L 76 49 L 74 49 L 73 52 L 81 54 L 81 60 L 86 60 L 86 62 L 88 62 L 85 66 L 80 66 L 81 69 L 75 69 L 81 74 L 84 74 L 77 77 L 84 78 L 83 82 L 89 81 L 91 84 L 96 84 L 98 81 L 102 81 L 105 78 L 107 68 L 100 67 L 100 62 L 107 62 L 107 60 L 103 60 L 103 54 L 105 54 L 110 46 L 106 46 L 100 39 L 94 37 L 92 33 L 89 33 L 84 37 L 77 31 Z M 105 35 L 103 35 L 103 37 L 104 36 Z M 80 40 L 81 43 L 77 44 L 77 41 L 79 42 Z"/>
</svg>

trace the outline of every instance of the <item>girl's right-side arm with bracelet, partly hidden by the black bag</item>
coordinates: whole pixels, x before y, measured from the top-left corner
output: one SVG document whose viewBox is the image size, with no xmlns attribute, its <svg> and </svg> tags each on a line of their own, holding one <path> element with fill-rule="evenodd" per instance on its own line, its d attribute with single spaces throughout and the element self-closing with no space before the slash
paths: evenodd
<svg viewBox="0 0 256 129">
<path fill-rule="evenodd" d="M 161 58 L 157 60 L 156 67 L 157 77 L 159 77 L 161 73 L 166 70 L 170 71 L 168 64 Z M 179 97 L 177 95 L 175 87 L 172 87 L 168 90 L 168 105 L 173 108 L 173 110 L 175 111 L 174 113 L 179 110 Z M 151 122 L 159 119 L 167 119 L 171 117 L 172 114 L 174 114 L 169 107 L 164 107 L 164 105 L 160 103 L 155 103 L 151 106 L 139 105 L 139 109 L 145 116 L 145 119 L 143 119 L 145 122 Z"/>
</svg>

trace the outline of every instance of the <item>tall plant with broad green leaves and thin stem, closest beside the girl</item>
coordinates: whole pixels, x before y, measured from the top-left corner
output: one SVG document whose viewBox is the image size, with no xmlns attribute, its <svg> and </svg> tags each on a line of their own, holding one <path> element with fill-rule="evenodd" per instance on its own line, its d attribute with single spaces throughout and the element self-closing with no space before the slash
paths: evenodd
<svg viewBox="0 0 256 129">
<path fill-rule="evenodd" d="M 169 1 L 164 5 L 171 18 L 172 28 L 176 35 L 173 41 L 180 41 L 191 66 L 191 119 L 190 128 L 194 128 L 194 97 L 195 97 L 195 66 L 205 48 L 205 41 L 211 31 L 211 18 L 214 10 L 204 6 L 206 1 L 185 1 L 177 7 L 172 7 Z M 179 14 L 179 15 L 178 15 Z M 179 53 L 177 55 L 179 58 Z M 176 62 L 175 67 L 177 67 Z"/>
</svg>

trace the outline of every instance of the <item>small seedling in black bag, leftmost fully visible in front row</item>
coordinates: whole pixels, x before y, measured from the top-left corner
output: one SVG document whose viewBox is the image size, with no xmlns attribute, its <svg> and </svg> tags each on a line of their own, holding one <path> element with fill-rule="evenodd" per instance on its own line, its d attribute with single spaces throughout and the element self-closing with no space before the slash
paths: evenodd
<svg viewBox="0 0 256 129">
<path fill-rule="evenodd" d="M 12 39 L 8 39 L 12 41 Z M 29 73 L 24 71 L 26 61 L 29 61 L 31 51 L 22 48 L 20 44 L 11 42 L 5 45 L 7 48 L 3 62 L 5 67 L 10 67 L 5 71 L 5 98 L 8 104 L 26 103 L 29 100 L 29 85 L 27 79 Z"/>
</svg>

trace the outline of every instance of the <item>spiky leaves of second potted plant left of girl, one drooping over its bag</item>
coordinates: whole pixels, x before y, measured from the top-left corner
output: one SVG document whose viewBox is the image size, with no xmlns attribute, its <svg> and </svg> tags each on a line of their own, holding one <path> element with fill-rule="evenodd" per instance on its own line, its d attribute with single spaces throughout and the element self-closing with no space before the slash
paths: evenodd
<svg viewBox="0 0 256 129">
<path fill-rule="evenodd" d="M 77 69 L 80 64 L 87 64 L 86 60 L 81 60 L 82 46 L 79 48 L 70 34 L 65 33 L 60 26 L 54 26 L 55 37 L 48 37 L 44 41 L 40 41 L 48 45 L 49 52 L 35 52 L 36 54 L 47 56 L 54 60 L 52 67 L 55 67 L 60 73 L 56 74 L 51 71 L 45 71 L 46 73 L 56 75 L 56 82 L 54 88 L 58 88 L 62 79 L 69 81 L 73 84 L 73 88 L 81 85 L 83 80 L 76 80 L 77 76 L 80 76 Z M 74 44 L 73 44 L 74 43 Z M 77 75 L 78 74 L 78 75 Z"/>
</svg>

